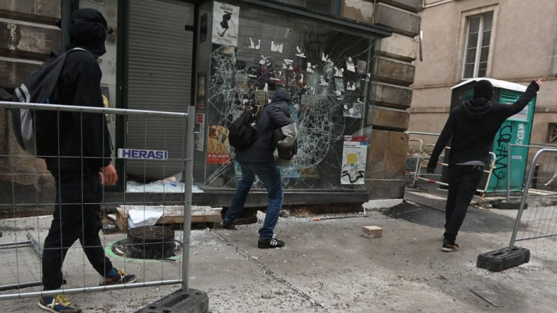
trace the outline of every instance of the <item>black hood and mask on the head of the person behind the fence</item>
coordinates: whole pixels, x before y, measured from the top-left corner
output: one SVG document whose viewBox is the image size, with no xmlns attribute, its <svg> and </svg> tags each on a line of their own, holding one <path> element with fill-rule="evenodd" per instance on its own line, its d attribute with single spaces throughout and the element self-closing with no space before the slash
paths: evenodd
<svg viewBox="0 0 557 313">
<path fill-rule="evenodd" d="M 106 53 L 104 42 L 111 29 L 102 14 L 93 8 L 80 8 L 71 13 L 69 20 L 69 45 L 71 48 L 85 48 L 95 57 Z"/>
</svg>

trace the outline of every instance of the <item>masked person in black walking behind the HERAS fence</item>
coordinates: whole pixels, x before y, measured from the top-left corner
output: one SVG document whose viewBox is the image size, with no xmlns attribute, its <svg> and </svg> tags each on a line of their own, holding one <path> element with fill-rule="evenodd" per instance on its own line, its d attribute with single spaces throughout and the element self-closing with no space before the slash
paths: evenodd
<svg viewBox="0 0 557 313">
<path fill-rule="evenodd" d="M 53 103 L 103 107 L 102 73 L 97 58 L 106 53 L 104 41 L 109 32 L 106 20 L 96 10 L 82 8 L 71 15 L 67 48 L 80 49 L 67 55 Z M 46 158 L 46 167 L 55 180 L 56 202 L 43 249 L 43 290 L 62 286 L 62 263 L 76 240 L 101 275 L 101 285 L 136 281 L 134 274 L 112 266 L 99 238 L 102 185 L 112 185 L 118 180 L 111 165 L 111 139 L 104 114 L 60 112 L 53 123 L 59 130 L 55 147 L 59 152 L 55 157 Z M 71 277 L 69 274 L 68 278 Z M 50 312 L 81 312 L 63 294 L 41 297 L 39 307 Z"/>
</svg>

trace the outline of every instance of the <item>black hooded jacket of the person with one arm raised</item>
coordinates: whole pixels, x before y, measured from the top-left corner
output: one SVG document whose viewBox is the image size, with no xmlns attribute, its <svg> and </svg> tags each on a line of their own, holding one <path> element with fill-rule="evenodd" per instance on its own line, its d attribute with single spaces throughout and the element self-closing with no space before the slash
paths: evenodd
<svg viewBox="0 0 557 313">
<path fill-rule="evenodd" d="M 536 95 L 539 86 L 532 81 L 514 104 L 499 104 L 485 98 L 473 99 L 455 107 L 448 116 L 443 131 L 427 164 L 428 172 L 435 169 L 439 155 L 451 137 L 449 165 L 469 161 L 489 162 L 493 139 L 504 120 L 522 111 Z"/>
</svg>

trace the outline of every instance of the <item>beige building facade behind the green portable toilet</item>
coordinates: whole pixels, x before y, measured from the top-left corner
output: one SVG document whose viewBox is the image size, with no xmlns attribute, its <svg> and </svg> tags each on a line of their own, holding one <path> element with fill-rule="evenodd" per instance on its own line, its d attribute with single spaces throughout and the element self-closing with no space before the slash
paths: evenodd
<svg viewBox="0 0 557 313">
<path fill-rule="evenodd" d="M 521 85 L 543 78 L 530 142 L 557 143 L 557 1 L 427 0 L 419 15 L 424 53 L 423 62 L 416 62 L 411 85 L 408 130 L 441 132 L 451 87 L 467 78 Z M 474 41 L 480 33 L 481 42 Z"/>
</svg>

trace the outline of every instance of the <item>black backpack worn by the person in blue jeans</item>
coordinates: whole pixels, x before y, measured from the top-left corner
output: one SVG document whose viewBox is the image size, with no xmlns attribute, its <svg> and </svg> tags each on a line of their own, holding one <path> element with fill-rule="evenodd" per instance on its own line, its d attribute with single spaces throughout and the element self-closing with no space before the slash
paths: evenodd
<svg viewBox="0 0 557 313">
<path fill-rule="evenodd" d="M 261 114 L 261 109 L 256 113 L 244 112 L 228 127 L 228 143 L 237 150 L 245 150 L 256 141 L 255 124 Z M 252 125 L 253 124 L 253 125 Z"/>
</svg>

